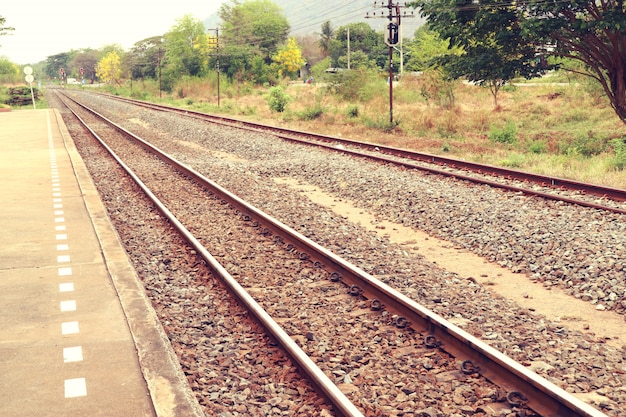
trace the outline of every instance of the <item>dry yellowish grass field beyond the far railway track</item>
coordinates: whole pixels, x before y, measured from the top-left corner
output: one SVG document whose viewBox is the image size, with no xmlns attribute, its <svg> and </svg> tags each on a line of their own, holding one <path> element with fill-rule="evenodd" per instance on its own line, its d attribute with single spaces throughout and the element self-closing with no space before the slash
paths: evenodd
<svg viewBox="0 0 626 417">
<path fill-rule="evenodd" d="M 223 86 L 219 108 L 214 82 L 185 81 L 172 96 L 177 105 L 271 125 L 626 188 L 626 172 L 612 168 L 606 145 L 610 139 L 626 137 L 626 127 L 601 93 L 582 85 L 505 88 L 494 108 L 489 90 L 459 83 L 454 103 L 442 107 L 420 95 L 420 80 L 407 79 L 394 89 L 398 124 L 393 129 L 384 85 L 372 87 L 373 98 L 367 102 L 340 101 L 319 84 L 283 87 L 293 101 L 281 114 L 270 111 L 264 98 L 267 88 L 261 87 Z M 303 114 L 315 108 L 321 114 L 307 120 Z M 514 143 L 491 140 L 493 130 L 507 123 L 516 127 Z M 604 152 L 594 154 L 600 148 Z"/>
</svg>

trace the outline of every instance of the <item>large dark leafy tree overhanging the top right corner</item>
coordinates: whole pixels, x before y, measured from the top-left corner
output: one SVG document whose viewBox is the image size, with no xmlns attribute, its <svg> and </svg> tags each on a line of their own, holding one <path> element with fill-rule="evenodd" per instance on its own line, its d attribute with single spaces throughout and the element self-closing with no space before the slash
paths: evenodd
<svg viewBox="0 0 626 417">
<path fill-rule="evenodd" d="M 626 124 L 623 0 L 419 0 L 412 4 L 422 8 L 429 24 L 443 38 L 463 46 L 474 65 L 479 47 L 490 47 L 489 52 L 502 48 L 508 61 L 500 63 L 490 55 L 486 60 L 489 65 L 517 64 L 525 76 L 537 76 L 548 69 L 544 66 L 548 56 L 583 62 L 586 70 L 581 73 L 600 83 L 615 113 Z M 500 71 L 504 75 L 511 72 Z"/>
</svg>

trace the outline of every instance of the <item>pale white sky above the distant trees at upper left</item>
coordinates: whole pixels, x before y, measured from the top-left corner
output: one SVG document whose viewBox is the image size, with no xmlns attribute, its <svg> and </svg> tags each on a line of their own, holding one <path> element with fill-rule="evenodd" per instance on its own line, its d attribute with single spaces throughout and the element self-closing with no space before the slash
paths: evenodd
<svg viewBox="0 0 626 417">
<path fill-rule="evenodd" d="M 204 21 L 226 0 L 1 0 L 12 34 L 0 36 L 0 56 L 19 65 L 74 49 L 138 41 L 169 31 L 190 14 Z"/>
</svg>

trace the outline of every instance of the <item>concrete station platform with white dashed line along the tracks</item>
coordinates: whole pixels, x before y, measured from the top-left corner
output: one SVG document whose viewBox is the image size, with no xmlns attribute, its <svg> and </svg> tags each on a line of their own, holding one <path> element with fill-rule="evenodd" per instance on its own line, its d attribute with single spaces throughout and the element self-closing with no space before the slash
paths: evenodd
<svg viewBox="0 0 626 417">
<path fill-rule="evenodd" d="M 0 416 L 201 416 L 55 110 L 0 113 Z"/>
</svg>

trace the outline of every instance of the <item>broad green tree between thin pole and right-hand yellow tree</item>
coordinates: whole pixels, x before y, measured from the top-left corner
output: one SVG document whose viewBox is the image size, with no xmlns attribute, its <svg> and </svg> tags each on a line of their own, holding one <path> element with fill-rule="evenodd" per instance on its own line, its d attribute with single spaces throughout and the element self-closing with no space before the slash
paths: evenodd
<svg viewBox="0 0 626 417">
<path fill-rule="evenodd" d="M 239 57 L 261 56 L 267 65 L 272 63 L 272 56 L 287 40 L 290 29 L 280 8 L 269 0 L 247 0 L 243 3 L 232 0 L 221 6 L 219 16 L 223 22 L 220 41 L 224 43 L 224 55 L 235 50 Z M 242 53 L 242 49 L 246 52 Z M 237 59 L 234 63 L 241 67 Z M 226 65 L 229 64 L 226 62 Z M 225 70 L 234 74 L 240 69 Z"/>
</svg>

